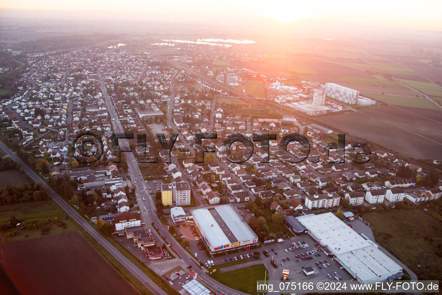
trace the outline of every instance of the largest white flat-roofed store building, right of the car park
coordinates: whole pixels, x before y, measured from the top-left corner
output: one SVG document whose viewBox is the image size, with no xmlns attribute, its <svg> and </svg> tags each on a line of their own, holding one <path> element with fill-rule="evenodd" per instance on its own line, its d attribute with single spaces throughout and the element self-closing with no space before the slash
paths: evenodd
<svg viewBox="0 0 442 295">
<path fill-rule="evenodd" d="M 402 268 L 331 212 L 297 217 L 324 252 L 331 254 L 361 282 L 400 278 Z"/>
</svg>

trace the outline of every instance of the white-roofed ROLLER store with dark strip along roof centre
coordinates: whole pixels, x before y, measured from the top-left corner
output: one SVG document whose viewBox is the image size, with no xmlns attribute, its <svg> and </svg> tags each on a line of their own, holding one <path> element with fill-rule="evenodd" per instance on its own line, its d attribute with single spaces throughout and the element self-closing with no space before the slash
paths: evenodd
<svg viewBox="0 0 442 295">
<path fill-rule="evenodd" d="M 191 210 L 195 227 L 210 253 L 250 249 L 258 237 L 232 205 Z"/>
</svg>

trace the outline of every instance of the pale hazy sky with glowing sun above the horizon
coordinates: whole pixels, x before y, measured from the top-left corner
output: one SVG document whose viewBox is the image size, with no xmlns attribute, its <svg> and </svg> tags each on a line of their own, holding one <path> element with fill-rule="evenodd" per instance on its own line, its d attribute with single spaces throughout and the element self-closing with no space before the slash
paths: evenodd
<svg viewBox="0 0 442 295">
<path fill-rule="evenodd" d="M 0 8 L 43 9 L 68 11 L 134 12 L 134 17 L 210 19 L 225 16 L 259 16 L 281 23 L 306 18 L 332 20 L 342 23 L 442 31 L 442 1 L 421 0 L 0 0 Z M 126 14 L 125 14 L 126 15 Z"/>
</svg>

